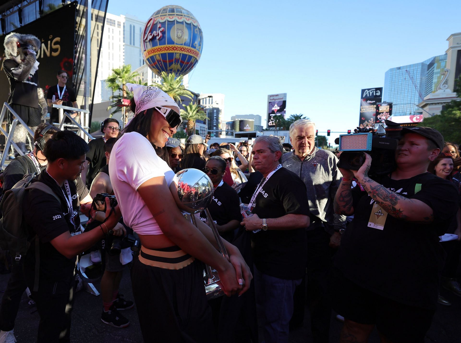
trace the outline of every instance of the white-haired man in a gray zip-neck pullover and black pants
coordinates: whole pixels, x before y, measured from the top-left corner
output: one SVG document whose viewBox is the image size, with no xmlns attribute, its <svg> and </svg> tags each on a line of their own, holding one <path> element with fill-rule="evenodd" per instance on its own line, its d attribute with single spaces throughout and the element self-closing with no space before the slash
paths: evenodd
<svg viewBox="0 0 461 343">
<path fill-rule="evenodd" d="M 308 119 L 290 125 L 290 141 L 295 149 L 284 154 L 282 165 L 294 172 L 306 185 L 312 223 L 307 228 L 307 289 L 311 314 L 311 329 L 315 343 L 328 342 L 331 305 L 328 273 L 331 268 L 331 248 L 341 241 L 346 217 L 334 213 L 333 202 L 343 175 L 337 167 L 337 157 L 328 150 L 315 147 L 315 124 Z M 331 248 L 330 248 L 331 247 Z M 302 286 L 302 285 L 301 285 Z M 304 294 L 296 292 L 301 301 L 295 308 L 292 325 L 302 323 Z"/>
</svg>

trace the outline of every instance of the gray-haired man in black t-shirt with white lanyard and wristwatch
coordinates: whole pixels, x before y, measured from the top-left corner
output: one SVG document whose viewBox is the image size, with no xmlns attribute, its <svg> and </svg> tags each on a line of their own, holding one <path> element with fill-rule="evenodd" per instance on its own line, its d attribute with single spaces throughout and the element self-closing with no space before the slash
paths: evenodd
<svg viewBox="0 0 461 343">
<path fill-rule="evenodd" d="M 310 224 L 306 186 L 280 164 L 283 147 L 274 136 L 254 141 L 254 167 L 263 175 L 243 219 L 253 231 L 254 287 L 263 313 L 266 343 L 288 342 L 293 294 L 306 267 L 306 227 Z"/>
</svg>

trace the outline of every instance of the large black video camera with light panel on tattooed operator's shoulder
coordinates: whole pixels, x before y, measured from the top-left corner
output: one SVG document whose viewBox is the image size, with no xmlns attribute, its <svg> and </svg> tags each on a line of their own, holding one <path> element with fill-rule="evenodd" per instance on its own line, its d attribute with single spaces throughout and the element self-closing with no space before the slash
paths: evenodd
<svg viewBox="0 0 461 343">
<path fill-rule="evenodd" d="M 384 121 L 385 132 L 377 132 L 372 128 L 358 128 L 354 133 L 339 135 L 335 143 L 339 145 L 338 167 L 349 170 L 359 170 L 365 162 L 365 154 L 372 158 L 372 165 L 368 175 L 383 175 L 393 171 L 395 165 L 395 150 L 402 137 L 400 124 Z"/>
</svg>

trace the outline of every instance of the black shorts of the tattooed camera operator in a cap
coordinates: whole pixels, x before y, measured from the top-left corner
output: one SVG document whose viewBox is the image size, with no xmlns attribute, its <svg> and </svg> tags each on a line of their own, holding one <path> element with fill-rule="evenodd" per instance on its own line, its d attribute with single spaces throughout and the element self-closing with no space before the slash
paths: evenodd
<svg viewBox="0 0 461 343">
<path fill-rule="evenodd" d="M 337 269 L 332 278 L 333 309 L 344 319 L 376 325 L 393 343 L 423 343 L 435 310 L 405 305 L 360 287 Z"/>
</svg>

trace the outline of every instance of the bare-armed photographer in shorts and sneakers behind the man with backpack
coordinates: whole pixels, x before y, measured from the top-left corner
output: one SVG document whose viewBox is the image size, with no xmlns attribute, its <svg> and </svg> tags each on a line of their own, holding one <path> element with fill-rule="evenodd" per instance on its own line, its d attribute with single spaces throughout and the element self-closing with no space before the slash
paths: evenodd
<svg viewBox="0 0 461 343">
<path fill-rule="evenodd" d="M 113 195 L 111 179 L 109 177 L 109 160 L 111 157 L 112 147 L 117 142 L 117 138 L 109 138 L 104 144 L 104 152 L 106 154 L 106 166 L 103 166 L 98 174 L 96 174 L 89 193 L 92 198 L 98 193 L 107 193 Z M 94 222 L 93 225 L 100 224 Z M 96 225 L 97 226 L 97 225 Z M 122 228 L 121 223 L 117 223 L 116 227 Z M 122 229 L 123 230 L 123 229 Z M 108 247 L 106 246 L 106 249 Z M 128 248 L 129 249 L 129 248 Z M 107 251 L 107 250 L 106 250 Z M 119 254 L 109 254 L 106 252 L 106 268 L 101 278 L 101 297 L 103 310 L 101 313 L 101 321 L 114 327 L 126 327 L 130 325 L 130 321 L 119 310 L 128 310 L 134 306 L 130 300 L 125 300 L 123 295 L 118 293 L 120 280 L 122 279 L 125 265 L 120 262 Z"/>
</svg>

